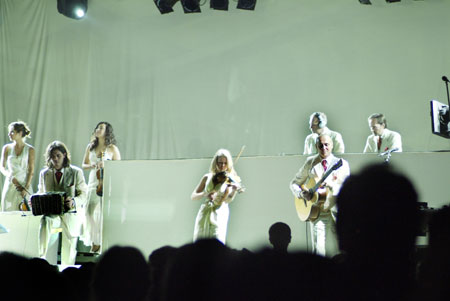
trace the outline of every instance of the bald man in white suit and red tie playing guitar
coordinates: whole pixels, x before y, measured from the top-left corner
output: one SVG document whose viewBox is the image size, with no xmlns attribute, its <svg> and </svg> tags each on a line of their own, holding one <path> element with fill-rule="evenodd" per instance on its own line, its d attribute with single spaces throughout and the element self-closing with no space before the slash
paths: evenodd
<svg viewBox="0 0 450 301">
<path fill-rule="evenodd" d="M 333 140 L 329 135 L 320 135 L 317 138 L 316 147 L 318 154 L 308 157 L 291 181 L 291 191 L 298 198 L 311 200 L 312 195 L 308 190 L 302 190 L 300 186 L 309 179 L 316 179 L 316 181 L 321 179 L 326 170 L 339 161 L 339 158 L 336 158 L 331 153 Z M 337 242 L 333 228 L 334 216 L 337 212 L 335 199 L 342 183 L 349 175 L 350 167 L 347 161 L 342 160 L 342 166 L 333 171 L 323 183 L 323 187 L 327 188 L 329 193 L 321 208 L 319 217 L 310 222 L 313 253 L 322 256 L 332 256 L 334 255 L 332 254 L 333 252 L 337 252 Z"/>
</svg>

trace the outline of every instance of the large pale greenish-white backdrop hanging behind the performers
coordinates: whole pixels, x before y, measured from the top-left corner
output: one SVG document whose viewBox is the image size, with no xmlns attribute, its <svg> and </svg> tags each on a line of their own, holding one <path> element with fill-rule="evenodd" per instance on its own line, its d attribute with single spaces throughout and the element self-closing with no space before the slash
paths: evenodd
<svg viewBox="0 0 450 301">
<path fill-rule="evenodd" d="M 372 2 L 259 0 L 243 11 L 230 1 L 224 12 L 207 1 L 200 14 L 177 3 L 161 15 L 152 0 L 90 0 L 76 21 L 55 0 L 0 0 L 0 125 L 29 123 L 37 170 L 55 139 L 80 165 L 100 120 L 130 160 L 243 144 L 244 156 L 298 154 L 317 110 L 350 153 L 373 112 L 405 151 L 450 149 L 430 134 L 428 108 L 446 102 L 450 1 Z"/>
</svg>

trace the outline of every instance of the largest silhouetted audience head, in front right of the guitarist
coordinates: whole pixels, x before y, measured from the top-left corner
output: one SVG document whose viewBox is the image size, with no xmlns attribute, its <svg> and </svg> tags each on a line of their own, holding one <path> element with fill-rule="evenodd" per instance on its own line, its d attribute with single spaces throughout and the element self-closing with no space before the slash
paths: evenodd
<svg viewBox="0 0 450 301">
<path fill-rule="evenodd" d="M 339 247 L 351 255 L 408 254 L 419 225 L 417 199 L 410 180 L 388 165 L 351 175 L 337 197 Z"/>
</svg>

